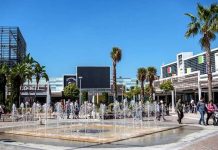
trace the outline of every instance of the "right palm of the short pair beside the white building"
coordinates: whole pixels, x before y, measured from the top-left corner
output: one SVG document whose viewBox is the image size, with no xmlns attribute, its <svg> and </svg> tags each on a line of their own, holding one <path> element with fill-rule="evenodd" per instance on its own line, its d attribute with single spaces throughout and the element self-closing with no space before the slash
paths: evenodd
<svg viewBox="0 0 218 150">
<path fill-rule="evenodd" d="M 149 97 L 153 100 L 154 87 L 153 82 L 157 76 L 157 69 L 155 67 L 147 68 L 147 81 L 149 82 Z"/>
</svg>

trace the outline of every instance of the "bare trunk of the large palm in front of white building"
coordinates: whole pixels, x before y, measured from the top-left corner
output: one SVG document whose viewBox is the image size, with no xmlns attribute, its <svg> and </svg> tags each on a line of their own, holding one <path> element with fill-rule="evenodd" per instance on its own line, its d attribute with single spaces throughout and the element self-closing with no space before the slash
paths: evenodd
<svg viewBox="0 0 218 150">
<path fill-rule="evenodd" d="M 206 50 L 206 65 L 207 65 L 207 76 L 208 76 L 208 100 L 212 100 L 212 70 L 211 70 L 211 51 L 210 44 L 205 47 Z"/>
</svg>

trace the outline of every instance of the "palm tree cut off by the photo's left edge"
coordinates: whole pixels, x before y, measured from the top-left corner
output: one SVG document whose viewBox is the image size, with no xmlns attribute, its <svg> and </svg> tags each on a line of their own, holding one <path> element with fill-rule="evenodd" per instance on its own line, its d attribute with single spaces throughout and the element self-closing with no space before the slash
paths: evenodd
<svg viewBox="0 0 218 150">
<path fill-rule="evenodd" d="M 5 105 L 5 91 L 9 68 L 6 64 L 0 65 L 0 104 Z"/>
</svg>

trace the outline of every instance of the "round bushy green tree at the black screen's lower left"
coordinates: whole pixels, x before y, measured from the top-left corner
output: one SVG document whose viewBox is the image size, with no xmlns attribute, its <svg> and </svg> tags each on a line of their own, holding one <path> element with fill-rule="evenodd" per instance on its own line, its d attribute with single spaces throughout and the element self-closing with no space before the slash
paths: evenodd
<svg viewBox="0 0 218 150">
<path fill-rule="evenodd" d="M 64 88 L 64 96 L 72 101 L 79 99 L 79 89 L 75 83 L 68 84 L 68 86 Z"/>
</svg>

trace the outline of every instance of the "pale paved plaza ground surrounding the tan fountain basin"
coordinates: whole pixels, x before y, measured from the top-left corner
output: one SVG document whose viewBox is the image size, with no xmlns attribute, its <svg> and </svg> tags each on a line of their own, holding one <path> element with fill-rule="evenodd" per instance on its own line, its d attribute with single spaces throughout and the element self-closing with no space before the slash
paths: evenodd
<svg viewBox="0 0 218 150">
<path fill-rule="evenodd" d="M 160 122 L 148 122 L 146 119 L 143 121 L 145 126 L 157 127 L 176 127 L 168 131 L 159 133 L 153 133 L 146 136 L 140 136 L 136 138 L 121 140 L 112 143 L 88 143 L 88 142 L 76 142 L 59 139 L 46 139 L 31 136 L 18 136 L 11 134 L 0 135 L 0 149 L 1 150 L 70 150 L 70 149 L 217 149 L 216 139 L 218 138 L 217 126 L 201 126 L 198 125 L 199 114 L 185 114 L 183 124 L 177 123 L 176 114 L 166 116 L 166 121 Z M 82 122 L 84 120 L 75 120 L 75 122 Z M 105 120 L 109 123 L 112 120 Z M 114 120 L 113 120 L 114 121 Z M 126 120 L 128 123 L 130 120 Z M 94 120 L 93 122 L 98 122 Z M 116 120 L 119 124 L 122 120 Z M 6 126 L 18 126 L 21 122 L 1 122 L 1 132 L 6 130 Z M 29 125 L 33 124 L 32 122 Z M 211 124 L 211 122 L 210 122 Z M 128 132 L 128 131 L 125 131 Z"/>
</svg>

